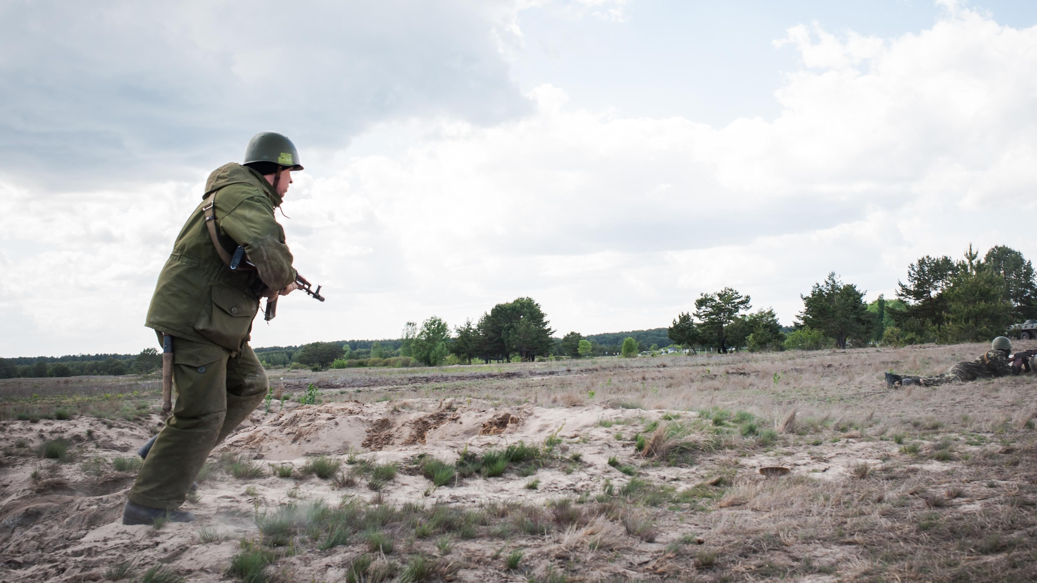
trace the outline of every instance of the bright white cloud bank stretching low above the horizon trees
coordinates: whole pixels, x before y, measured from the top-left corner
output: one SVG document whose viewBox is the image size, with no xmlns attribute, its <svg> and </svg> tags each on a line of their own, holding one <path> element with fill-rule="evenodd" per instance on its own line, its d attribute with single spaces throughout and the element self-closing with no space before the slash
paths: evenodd
<svg viewBox="0 0 1037 583">
<path fill-rule="evenodd" d="M 518 296 L 560 333 L 662 326 L 724 285 L 789 323 L 829 271 L 874 297 L 923 254 L 1037 252 L 1018 220 L 1033 204 L 1006 205 L 1037 187 L 1037 29 L 957 9 L 898 38 L 794 27 L 786 41 L 804 68 L 773 121 L 621 118 L 544 85 L 525 117 L 415 114 L 370 128 L 363 155 L 304 147 L 327 166 L 299 176 L 284 222 L 329 300 L 289 297 L 255 343 L 392 336 Z M 0 354 L 148 341 L 150 286 L 200 190 L 55 203 L 5 187 L 0 310 L 21 324 Z"/>
</svg>

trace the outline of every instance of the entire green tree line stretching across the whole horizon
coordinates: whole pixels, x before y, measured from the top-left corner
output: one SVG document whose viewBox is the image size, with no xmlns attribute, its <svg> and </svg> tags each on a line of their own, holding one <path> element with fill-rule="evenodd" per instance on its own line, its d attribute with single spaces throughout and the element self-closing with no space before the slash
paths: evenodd
<svg viewBox="0 0 1037 583">
<path fill-rule="evenodd" d="M 804 309 L 782 327 L 774 310 L 751 312 L 751 298 L 731 287 L 703 293 L 695 309 L 669 328 L 584 336 L 553 336 L 540 305 L 531 298 L 495 305 L 476 323 L 452 330 L 438 316 L 404 325 L 400 338 L 311 342 L 255 349 L 270 368 L 309 366 L 411 366 L 589 358 L 637 354 L 671 346 L 691 351 L 845 349 L 869 344 L 984 341 L 1015 323 L 1037 317 L 1033 265 L 1006 246 L 982 258 L 972 245 L 961 259 L 926 255 L 907 268 L 896 298 L 868 303 L 865 290 L 832 272 L 801 295 Z M 147 373 L 161 367 L 153 348 L 137 355 L 0 358 L 0 379 Z"/>
</svg>

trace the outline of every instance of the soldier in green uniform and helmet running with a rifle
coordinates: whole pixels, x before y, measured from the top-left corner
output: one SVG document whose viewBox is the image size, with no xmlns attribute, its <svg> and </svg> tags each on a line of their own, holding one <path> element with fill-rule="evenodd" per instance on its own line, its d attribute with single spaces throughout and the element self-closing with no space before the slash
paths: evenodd
<svg viewBox="0 0 1037 583">
<path fill-rule="evenodd" d="M 172 337 L 176 405 L 146 451 L 122 524 L 150 524 L 163 515 L 194 520 L 176 508 L 213 448 L 265 396 L 267 373 L 249 334 L 260 298 L 297 288 L 274 210 L 291 184 L 290 172 L 302 169 L 288 138 L 256 134 L 244 163 L 209 174 L 202 203 L 176 237 L 144 324 L 160 342 Z M 235 265 L 230 255 L 239 247 L 247 261 Z"/>
</svg>

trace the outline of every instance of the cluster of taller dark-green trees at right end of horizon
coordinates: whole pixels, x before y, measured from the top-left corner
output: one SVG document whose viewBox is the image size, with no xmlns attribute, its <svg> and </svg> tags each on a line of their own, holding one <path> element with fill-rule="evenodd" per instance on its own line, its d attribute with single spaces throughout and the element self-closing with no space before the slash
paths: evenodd
<svg viewBox="0 0 1037 583">
<path fill-rule="evenodd" d="M 725 287 L 702 294 L 694 312 L 679 313 L 669 336 L 688 349 L 721 353 L 903 346 L 985 341 L 1037 317 L 1033 265 L 1009 247 L 992 247 L 982 259 L 972 245 L 958 260 L 926 255 L 908 266 L 906 279 L 897 282 L 895 300 L 879 295 L 868 303 L 864 290 L 832 272 L 800 296 L 804 308 L 788 333 L 774 310 L 748 313 L 750 297 Z"/>
</svg>

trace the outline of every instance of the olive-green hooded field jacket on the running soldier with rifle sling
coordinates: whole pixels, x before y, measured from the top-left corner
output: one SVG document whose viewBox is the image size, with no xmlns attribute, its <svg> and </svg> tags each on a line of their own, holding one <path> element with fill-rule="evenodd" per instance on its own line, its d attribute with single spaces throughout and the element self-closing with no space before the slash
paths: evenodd
<svg viewBox="0 0 1037 583">
<path fill-rule="evenodd" d="M 221 166 L 209 174 L 202 198 L 214 191 L 223 248 L 233 255 L 239 245 L 244 247 L 255 271 L 231 271 L 220 259 L 205 226 L 204 204 L 198 204 L 159 274 L 144 326 L 239 353 L 249 339 L 263 288 L 285 287 L 296 280 L 296 271 L 284 229 L 274 218 L 281 197 L 259 172 L 241 164 Z M 177 356 L 177 361 L 186 360 L 188 355 Z"/>
</svg>

